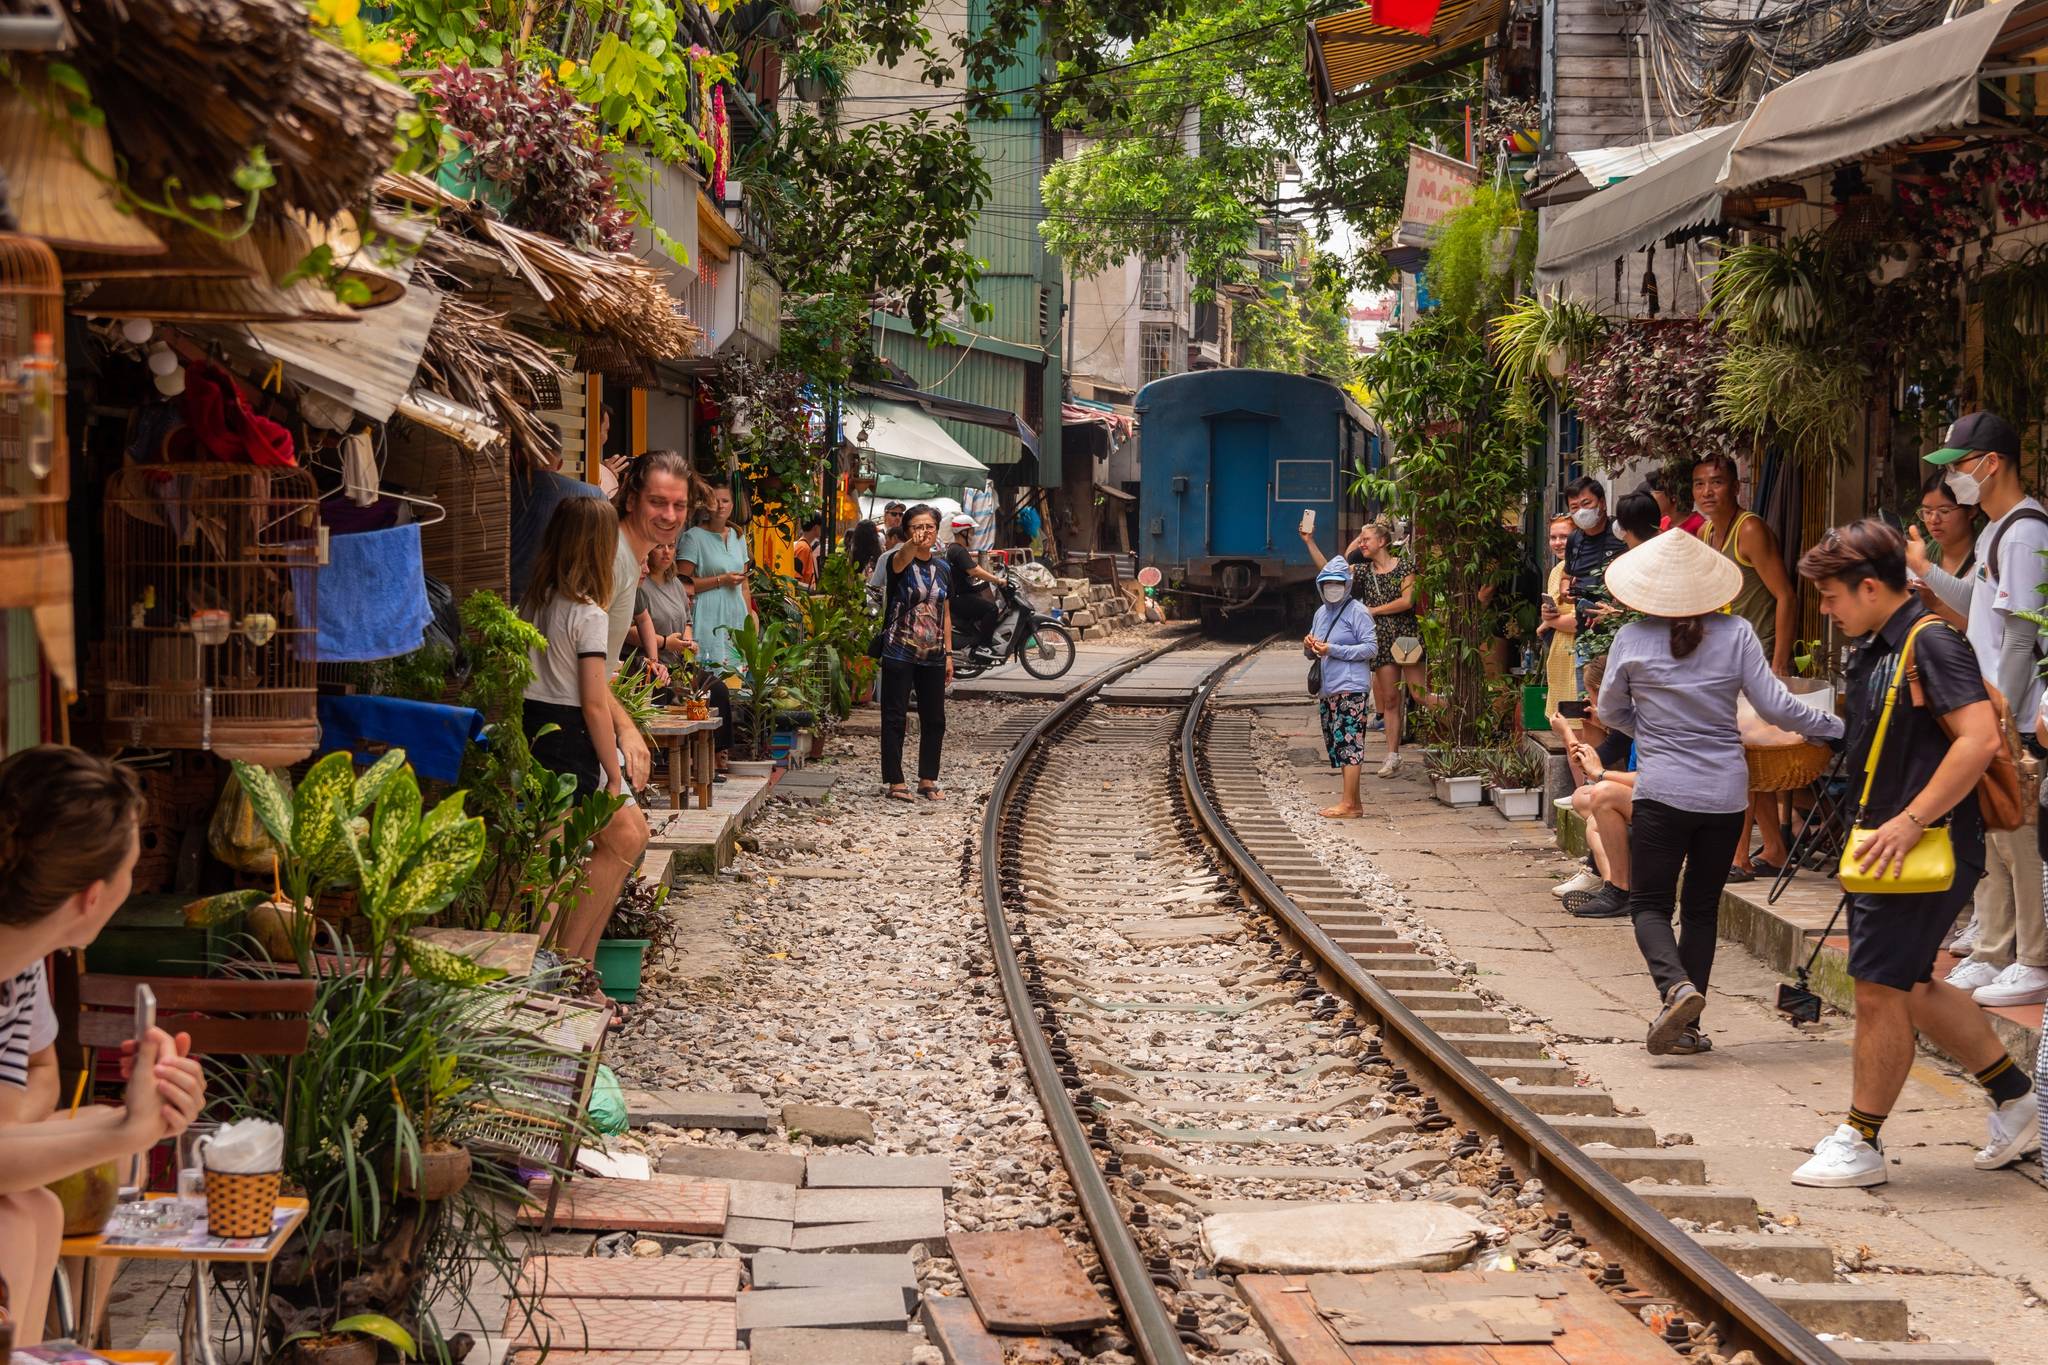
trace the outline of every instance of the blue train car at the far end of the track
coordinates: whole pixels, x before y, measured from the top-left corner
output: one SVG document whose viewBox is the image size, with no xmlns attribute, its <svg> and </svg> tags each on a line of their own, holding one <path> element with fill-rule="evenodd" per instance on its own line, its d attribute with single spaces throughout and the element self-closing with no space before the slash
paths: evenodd
<svg viewBox="0 0 2048 1365">
<path fill-rule="evenodd" d="M 1378 463 L 1366 411 L 1327 379 L 1192 370 L 1139 389 L 1139 563 L 1204 608 L 1294 610 L 1319 565 L 1300 542 L 1315 512 L 1325 555 L 1364 518 L 1358 469 Z"/>
</svg>

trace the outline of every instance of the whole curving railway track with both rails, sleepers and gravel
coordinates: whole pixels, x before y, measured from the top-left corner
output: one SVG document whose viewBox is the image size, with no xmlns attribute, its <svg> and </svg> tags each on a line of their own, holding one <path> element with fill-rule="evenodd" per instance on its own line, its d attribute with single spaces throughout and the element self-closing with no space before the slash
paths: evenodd
<svg viewBox="0 0 2048 1365">
<path fill-rule="evenodd" d="M 1327 1205 L 1372 1209 L 1366 1224 L 1436 1205 L 1466 1209 L 1483 1240 L 1540 1244 L 1571 1269 L 1403 1271 L 1423 1277 L 1399 1283 L 1548 1295 L 1565 1361 L 1985 1359 L 1821 1340 L 1802 1320 L 1876 1334 L 1847 1326 L 1870 1320 L 1872 1291 L 1815 1283 L 1833 1277 L 1825 1244 L 1765 1236 L 1753 1199 L 1706 1185 L 1696 1156 L 1575 1085 L 1540 1040 L 1511 1033 L 1333 880 L 1272 810 L 1249 720 L 1210 714 L 1245 653 L 1171 645 L 1020 724 L 981 833 L 1020 1054 L 1143 1359 L 1427 1355 L 1411 1322 L 1376 1338 L 1356 1306 L 1350 1320 L 1311 1308 L 1317 1287 L 1341 1285 L 1280 1271 L 1313 1269 L 1321 1252 L 1260 1273 L 1253 1246 L 1235 1283 L 1212 1279 L 1233 1224 L 1290 1218 L 1274 1205 L 1325 1207 L 1266 1224 L 1268 1238 L 1339 1228 Z M 1688 1234 L 1673 1218 L 1729 1230 Z M 1903 1304 L 1896 1326 L 1905 1336 Z"/>
</svg>

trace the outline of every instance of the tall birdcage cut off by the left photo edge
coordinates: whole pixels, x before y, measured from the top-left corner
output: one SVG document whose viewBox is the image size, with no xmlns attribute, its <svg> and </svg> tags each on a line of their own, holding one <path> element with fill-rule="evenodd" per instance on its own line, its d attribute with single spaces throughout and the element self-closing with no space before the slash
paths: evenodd
<svg viewBox="0 0 2048 1365">
<path fill-rule="evenodd" d="M 35 612 L 51 669 L 70 688 L 72 553 L 63 448 L 63 276 L 33 237 L 0 233 L 0 608 Z"/>
</svg>

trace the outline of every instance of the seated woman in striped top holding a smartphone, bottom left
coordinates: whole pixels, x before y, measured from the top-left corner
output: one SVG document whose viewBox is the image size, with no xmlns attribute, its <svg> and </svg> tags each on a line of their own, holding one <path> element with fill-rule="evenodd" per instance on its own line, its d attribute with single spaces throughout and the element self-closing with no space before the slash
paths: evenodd
<svg viewBox="0 0 2048 1365">
<path fill-rule="evenodd" d="M 139 817 L 141 788 L 106 759 L 39 745 L 0 763 L 0 1281 L 16 1349 L 43 1338 L 63 1240 L 43 1187 L 182 1134 L 207 1099 L 190 1036 L 150 1027 L 121 1105 L 57 1113 L 43 958 L 90 943 L 127 900 Z"/>
</svg>

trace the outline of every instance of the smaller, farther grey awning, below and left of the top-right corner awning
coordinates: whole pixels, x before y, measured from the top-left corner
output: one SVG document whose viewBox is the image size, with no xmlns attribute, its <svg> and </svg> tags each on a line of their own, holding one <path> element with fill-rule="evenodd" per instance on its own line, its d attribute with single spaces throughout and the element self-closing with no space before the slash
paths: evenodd
<svg viewBox="0 0 2048 1365">
<path fill-rule="evenodd" d="M 1741 131 L 1741 123 L 1712 129 L 1544 223 L 1536 239 L 1538 280 L 1604 266 L 1681 227 L 1720 219 L 1720 166 Z"/>
</svg>

